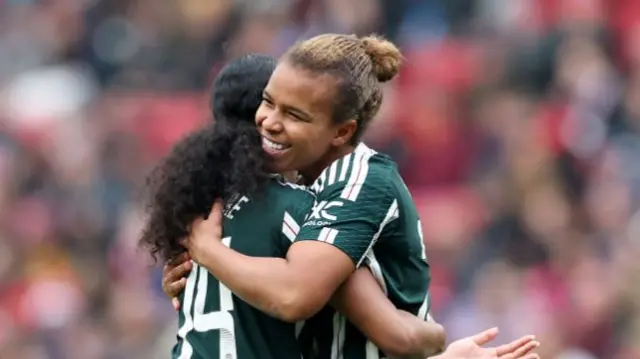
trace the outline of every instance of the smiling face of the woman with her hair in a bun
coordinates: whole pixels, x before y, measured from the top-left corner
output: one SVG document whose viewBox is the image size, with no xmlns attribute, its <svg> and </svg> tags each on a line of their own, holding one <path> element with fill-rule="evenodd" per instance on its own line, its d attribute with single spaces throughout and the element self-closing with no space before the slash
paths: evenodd
<svg viewBox="0 0 640 359">
<path fill-rule="evenodd" d="M 273 160 L 273 171 L 297 170 L 313 180 L 348 144 L 356 122 L 334 123 L 337 90 L 338 82 L 329 74 L 287 61 L 276 67 L 256 112 L 262 148 Z"/>
</svg>

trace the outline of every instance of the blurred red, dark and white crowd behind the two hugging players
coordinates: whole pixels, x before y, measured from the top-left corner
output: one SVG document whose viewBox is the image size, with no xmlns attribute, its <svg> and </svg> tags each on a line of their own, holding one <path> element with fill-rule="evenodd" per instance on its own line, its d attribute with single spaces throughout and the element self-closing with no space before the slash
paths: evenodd
<svg viewBox="0 0 640 359">
<path fill-rule="evenodd" d="M 406 55 L 367 135 L 421 211 L 435 317 L 640 358 L 640 1 L 0 0 L 0 358 L 167 358 L 141 186 L 224 62 L 322 32 Z"/>
</svg>

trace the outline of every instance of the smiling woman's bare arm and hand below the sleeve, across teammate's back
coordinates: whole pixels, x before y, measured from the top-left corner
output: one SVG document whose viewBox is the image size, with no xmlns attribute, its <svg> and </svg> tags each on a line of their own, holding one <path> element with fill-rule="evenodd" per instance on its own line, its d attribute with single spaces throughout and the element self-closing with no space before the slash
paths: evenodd
<svg viewBox="0 0 640 359">
<path fill-rule="evenodd" d="M 319 241 L 294 243 L 284 259 L 250 257 L 229 249 L 220 241 L 221 210 L 216 202 L 206 220 L 196 220 L 183 245 L 196 263 L 238 297 L 275 318 L 297 322 L 313 316 L 355 271 L 349 256 Z"/>
</svg>

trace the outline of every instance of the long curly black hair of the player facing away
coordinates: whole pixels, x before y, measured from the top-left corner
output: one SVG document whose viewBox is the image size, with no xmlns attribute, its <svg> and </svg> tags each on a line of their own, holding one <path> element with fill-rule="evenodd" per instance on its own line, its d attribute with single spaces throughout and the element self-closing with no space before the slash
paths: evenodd
<svg viewBox="0 0 640 359">
<path fill-rule="evenodd" d="M 215 122 L 179 141 L 147 180 L 147 221 L 139 244 L 154 260 L 185 251 L 191 223 L 216 198 L 257 194 L 269 179 L 255 113 L 276 61 L 247 55 L 226 65 L 213 83 Z"/>
</svg>

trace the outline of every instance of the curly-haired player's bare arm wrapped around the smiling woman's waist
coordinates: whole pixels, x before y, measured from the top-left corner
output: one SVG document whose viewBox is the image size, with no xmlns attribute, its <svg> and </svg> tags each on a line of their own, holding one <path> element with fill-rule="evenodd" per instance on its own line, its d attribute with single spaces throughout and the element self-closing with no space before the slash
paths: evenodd
<svg viewBox="0 0 640 359">
<path fill-rule="evenodd" d="M 444 328 L 397 310 L 367 268 L 352 274 L 331 304 L 389 356 L 422 359 L 445 347 Z"/>
</svg>

